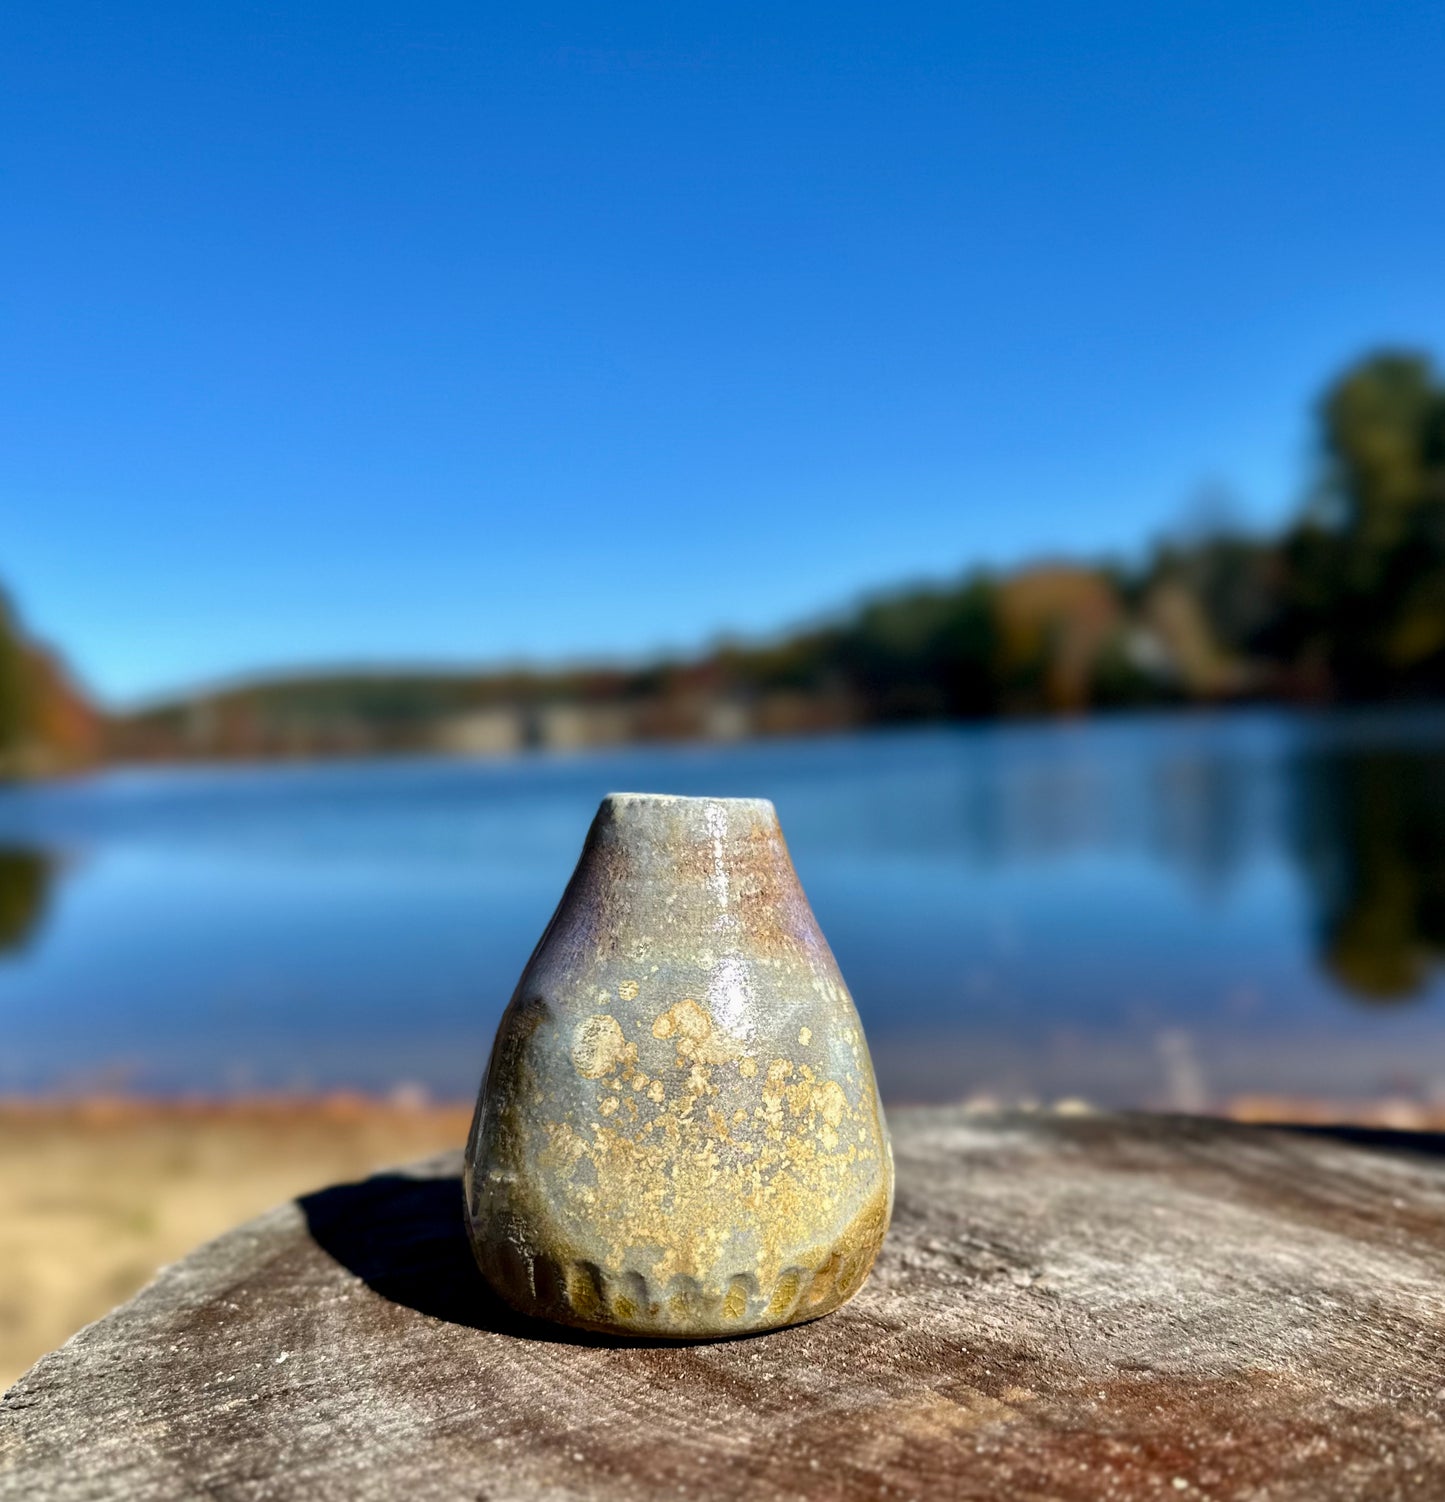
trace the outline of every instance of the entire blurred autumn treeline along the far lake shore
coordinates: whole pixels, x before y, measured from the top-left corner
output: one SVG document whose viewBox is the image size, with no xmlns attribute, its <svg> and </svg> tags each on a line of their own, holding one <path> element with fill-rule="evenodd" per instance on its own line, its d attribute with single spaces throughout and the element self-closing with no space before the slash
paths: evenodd
<svg viewBox="0 0 1445 1502">
<path fill-rule="evenodd" d="M 1314 473 L 1277 536 L 1215 521 L 1136 565 L 975 571 L 689 659 L 275 679 L 113 718 L 96 733 L 54 661 L 27 647 L 14 623 L 0 629 L 8 765 L 35 762 L 36 748 L 41 762 L 62 763 L 505 753 L 1116 706 L 1422 695 L 1445 695 L 1445 386 L 1427 357 L 1398 351 L 1361 360 L 1325 392 Z"/>
</svg>

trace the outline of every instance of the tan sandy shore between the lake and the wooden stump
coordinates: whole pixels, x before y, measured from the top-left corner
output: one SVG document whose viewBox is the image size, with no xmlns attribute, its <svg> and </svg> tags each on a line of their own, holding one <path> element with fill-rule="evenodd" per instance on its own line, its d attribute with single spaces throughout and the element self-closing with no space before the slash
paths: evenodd
<svg viewBox="0 0 1445 1502">
<path fill-rule="evenodd" d="M 1221 1110 L 1445 1130 L 1445 1107 L 1413 1101 L 1256 1096 Z M 469 1119 L 467 1105 L 354 1096 L 0 1101 L 0 1391 L 200 1242 L 308 1190 L 461 1146 Z"/>
</svg>

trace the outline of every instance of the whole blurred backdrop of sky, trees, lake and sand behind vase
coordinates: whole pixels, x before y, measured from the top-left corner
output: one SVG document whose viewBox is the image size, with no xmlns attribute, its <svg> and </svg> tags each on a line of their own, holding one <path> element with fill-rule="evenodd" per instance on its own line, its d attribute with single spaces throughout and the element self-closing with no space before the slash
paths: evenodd
<svg viewBox="0 0 1445 1502">
<path fill-rule="evenodd" d="M 0 1386 L 457 1145 L 614 789 L 891 1104 L 1445 1126 L 1433 6 L 0 36 Z"/>
</svg>

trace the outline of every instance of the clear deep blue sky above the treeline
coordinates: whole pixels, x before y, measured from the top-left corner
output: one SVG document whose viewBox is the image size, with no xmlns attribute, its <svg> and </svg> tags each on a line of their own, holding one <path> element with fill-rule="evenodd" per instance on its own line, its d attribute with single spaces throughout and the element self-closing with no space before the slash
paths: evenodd
<svg viewBox="0 0 1445 1502">
<path fill-rule="evenodd" d="M 0 577 L 116 701 L 1292 506 L 1445 347 L 1436 3 L 0 17 Z"/>
</svg>

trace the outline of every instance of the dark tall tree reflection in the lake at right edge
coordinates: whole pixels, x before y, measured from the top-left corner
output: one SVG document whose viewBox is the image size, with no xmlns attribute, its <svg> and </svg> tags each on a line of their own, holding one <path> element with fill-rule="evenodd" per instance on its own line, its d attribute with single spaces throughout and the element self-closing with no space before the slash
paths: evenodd
<svg viewBox="0 0 1445 1502">
<path fill-rule="evenodd" d="M 1301 760 L 1295 843 L 1329 975 L 1370 1002 L 1419 994 L 1445 960 L 1445 757 Z"/>
</svg>

